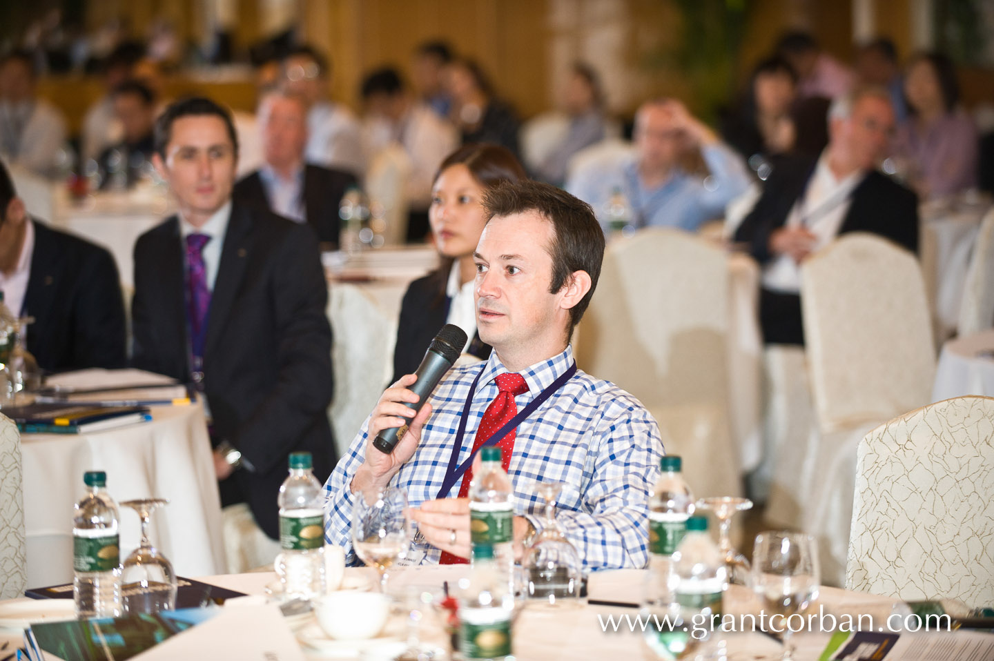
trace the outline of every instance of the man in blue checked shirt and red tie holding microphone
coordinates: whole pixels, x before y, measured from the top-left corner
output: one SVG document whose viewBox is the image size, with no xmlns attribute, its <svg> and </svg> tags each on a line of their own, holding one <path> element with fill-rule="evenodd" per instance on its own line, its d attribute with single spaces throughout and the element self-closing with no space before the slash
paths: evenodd
<svg viewBox="0 0 994 661">
<path fill-rule="evenodd" d="M 417 400 L 408 390 L 414 375 L 383 394 L 325 485 L 325 537 L 355 562 L 354 493 L 400 486 L 431 545 L 421 562 L 468 558 L 471 478 L 450 478 L 449 490 L 446 475 L 494 432 L 492 404 L 520 412 L 547 397 L 497 442 L 514 485 L 515 542 L 541 529 L 536 480 L 561 481 L 558 522 L 584 564 L 644 567 L 648 500 L 664 453 L 659 428 L 633 397 L 575 371 L 570 345 L 600 273 L 603 233 L 589 206 L 547 184 L 502 185 L 484 206 L 489 221 L 475 253 L 476 316 L 480 338 L 494 350 L 483 364 L 453 368 L 416 415 L 402 404 Z M 458 430 L 463 416 L 465 437 Z M 367 442 L 404 423 L 410 426 L 393 453 Z"/>
</svg>

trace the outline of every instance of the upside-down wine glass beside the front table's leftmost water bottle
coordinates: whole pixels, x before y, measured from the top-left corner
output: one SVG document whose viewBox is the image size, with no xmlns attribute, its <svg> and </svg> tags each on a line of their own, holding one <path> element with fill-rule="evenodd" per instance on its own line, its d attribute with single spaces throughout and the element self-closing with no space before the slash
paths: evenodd
<svg viewBox="0 0 994 661">
<path fill-rule="evenodd" d="M 166 498 L 139 498 L 121 503 L 141 518 L 141 545 L 121 565 L 121 607 L 125 612 L 154 613 L 176 607 L 176 573 L 148 539 L 152 512 L 168 504 Z"/>
</svg>

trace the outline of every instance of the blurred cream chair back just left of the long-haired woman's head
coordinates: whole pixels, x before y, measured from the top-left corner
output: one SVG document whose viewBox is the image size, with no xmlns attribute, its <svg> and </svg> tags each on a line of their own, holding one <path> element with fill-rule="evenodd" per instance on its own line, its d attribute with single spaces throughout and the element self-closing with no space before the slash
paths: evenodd
<svg viewBox="0 0 994 661">
<path fill-rule="evenodd" d="M 406 187 L 413 168 L 408 152 L 394 143 L 376 154 L 366 171 L 366 194 L 373 215 L 371 223 L 376 222 L 377 214 L 382 214 L 387 224 L 383 232 L 387 246 L 400 246 L 407 239 L 411 201 Z"/>
</svg>

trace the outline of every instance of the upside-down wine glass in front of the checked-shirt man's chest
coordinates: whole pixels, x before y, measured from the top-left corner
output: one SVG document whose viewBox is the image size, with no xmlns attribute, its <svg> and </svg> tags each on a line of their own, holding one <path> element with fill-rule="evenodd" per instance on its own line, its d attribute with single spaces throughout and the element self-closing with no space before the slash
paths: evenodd
<svg viewBox="0 0 994 661">
<path fill-rule="evenodd" d="M 556 522 L 556 502 L 564 486 L 563 482 L 535 483 L 535 490 L 546 501 L 545 522 L 521 562 L 526 597 L 550 607 L 580 605 L 583 563 Z"/>
</svg>

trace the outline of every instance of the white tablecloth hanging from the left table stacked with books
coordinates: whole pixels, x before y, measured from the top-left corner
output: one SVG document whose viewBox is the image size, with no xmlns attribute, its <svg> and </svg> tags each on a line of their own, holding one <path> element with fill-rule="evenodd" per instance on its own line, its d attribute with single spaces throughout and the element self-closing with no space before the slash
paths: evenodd
<svg viewBox="0 0 994 661">
<path fill-rule="evenodd" d="M 28 586 L 73 578 L 73 504 L 83 472 L 107 473 L 118 503 L 160 496 L 152 544 L 180 576 L 225 571 L 221 499 L 201 404 L 156 407 L 150 422 L 83 434 L 23 434 Z M 121 559 L 138 546 L 138 515 L 120 507 Z"/>
</svg>

